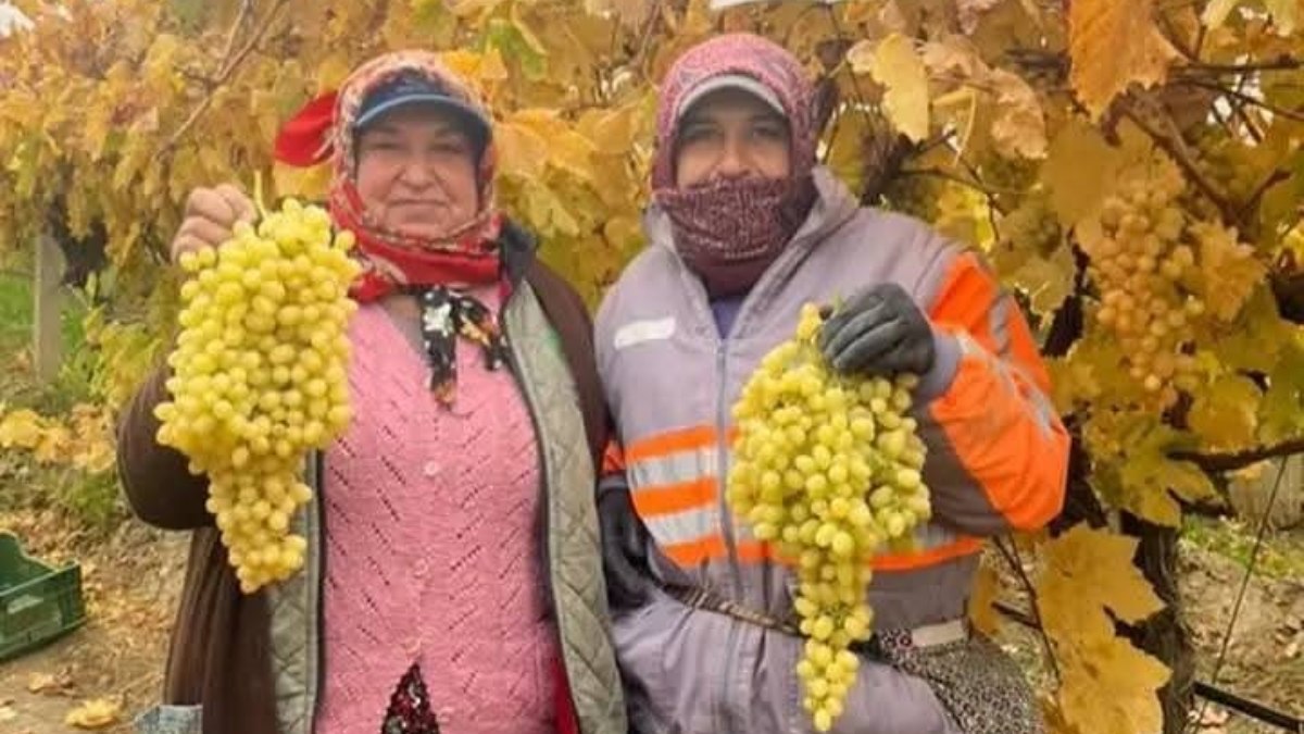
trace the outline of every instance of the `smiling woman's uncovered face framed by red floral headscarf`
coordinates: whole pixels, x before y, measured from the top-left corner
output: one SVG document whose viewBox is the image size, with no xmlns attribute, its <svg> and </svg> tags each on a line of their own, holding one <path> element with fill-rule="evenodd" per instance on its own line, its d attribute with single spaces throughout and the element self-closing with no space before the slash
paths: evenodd
<svg viewBox="0 0 1304 734">
<path fill-rule="evenodd" d="M 459 120 L 407 107 L 369 124 L 357 140 L 357 192 L 385 229 L 443 236 L 480 209 L 477 152 Z"/>
</svg>

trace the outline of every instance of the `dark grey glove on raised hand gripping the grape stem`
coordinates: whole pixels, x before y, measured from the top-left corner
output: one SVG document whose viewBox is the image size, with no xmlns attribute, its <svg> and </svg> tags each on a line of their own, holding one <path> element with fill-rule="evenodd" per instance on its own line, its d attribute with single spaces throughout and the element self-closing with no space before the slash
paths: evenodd
<svg viewBox="0 0 1304 734">
<path fill-rule="evenodd" d="M 863 290 L 824 323 L 824 359 L 842 374 L 922 375 L 932 367 L 932 327 L 901 286 Z"/>
</svg>

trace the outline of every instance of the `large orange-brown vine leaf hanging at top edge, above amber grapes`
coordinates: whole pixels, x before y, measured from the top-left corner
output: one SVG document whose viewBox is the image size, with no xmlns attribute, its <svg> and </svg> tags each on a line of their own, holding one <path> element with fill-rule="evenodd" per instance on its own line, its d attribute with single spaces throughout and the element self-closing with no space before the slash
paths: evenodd
<svg viewBox="0 0 1304 734">
<path fill-rule="evenodd" d="M 1132 84 L 1163 84 L 1178 56 L 1154 25 L 1154 0 L 1073 0 L 1071 82 L 1093 121 Z"/>
</svg>

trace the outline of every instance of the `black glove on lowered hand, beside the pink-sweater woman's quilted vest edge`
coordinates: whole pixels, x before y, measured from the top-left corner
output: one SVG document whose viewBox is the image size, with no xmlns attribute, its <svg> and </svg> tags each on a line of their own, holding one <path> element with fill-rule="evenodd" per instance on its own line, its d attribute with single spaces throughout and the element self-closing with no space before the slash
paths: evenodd
<svg viewBox="0 0 1304 734">
<path fill-rule="evenodd" d="M 643 606 L 653 584 L 648 568 L 651 537 L 634 512 L 627 485 L 604 482 L 597 492 L 597 521 L 602 532 L 608 603 L 617 610 Z"/>
</svg>

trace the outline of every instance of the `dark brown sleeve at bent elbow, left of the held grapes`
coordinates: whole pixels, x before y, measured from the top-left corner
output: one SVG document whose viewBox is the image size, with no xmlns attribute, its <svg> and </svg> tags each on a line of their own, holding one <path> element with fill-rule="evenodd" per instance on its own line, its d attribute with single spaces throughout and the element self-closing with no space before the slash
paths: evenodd
<svg viewBox="0 0 1304 734">
<path fill-rule="evenodd" d="M 192 530 L 213 525 L 203 503 L 209 482 L 186 469 L 179 451 L 160 445 L 154 407 L 168 400 L 171 370 L 158 367 L 132 397 L 117 423 L 117 473 L 132 511 L 150 525 Z"/>
</svg>

